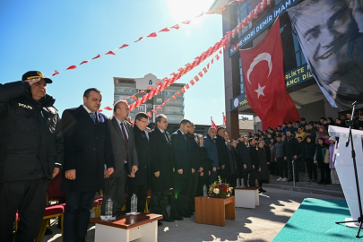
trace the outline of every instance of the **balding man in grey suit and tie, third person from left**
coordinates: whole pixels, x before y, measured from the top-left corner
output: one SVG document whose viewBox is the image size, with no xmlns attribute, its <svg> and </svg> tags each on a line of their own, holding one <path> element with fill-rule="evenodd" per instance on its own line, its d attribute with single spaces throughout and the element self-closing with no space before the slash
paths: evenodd
<svg viewBox="0 0 363 242">
<path fill-rule="evenodd" d="M 127 177 L 134 179 L 138 169 L 137 152 L 134 145 L 134 128 L 127 122 L 130 108 L 124 100 L 119 100 L 114 106 L 114 117 L 108 119 L 109 137 L 115 160 L 115 172 L 106 176 L 103 201 L 110 198 L 113 202 L 112 214 L 117 216 L 125 204 L 125 186 Z M 127 199 L 133 194 L 127 193 Z M 101 212 L 105 211 L 106 203 L 102 203 Z M 130 207 L 126 206 L 130 211 Z"/>
</svg>

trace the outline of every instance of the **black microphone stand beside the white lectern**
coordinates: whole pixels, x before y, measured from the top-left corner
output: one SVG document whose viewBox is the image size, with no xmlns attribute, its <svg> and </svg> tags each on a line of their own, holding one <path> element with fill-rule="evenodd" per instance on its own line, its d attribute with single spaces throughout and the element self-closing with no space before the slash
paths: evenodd
<svg viewBox="0 0 363 242">
<path fill-rule="evenodd" d="M 356 178 L 358 203 L 359 203 L 359 217 L 358 217 L 358 220 L 337 221 L 335 223 L 340 224 L 340 223 L 347 223 L 347 222 L 359 222 L 359 229 L 358 229 L 358 233 L 356 235 L 356 238 L 359 238 L 360 229 L 362 229 L 363 214 L 362 214 L 362 203 L 360 200 L 359 179 L 358 179 L 357 162 L 356 162 L 356 151 L 354 150 L 353 136 L 351 135 L 351 127 L 353 125 L 354 109 L 356 108 L 356 104 L 357 104 L 357 101 L 352 103 L 353 110 L 351 112 L 351 118 L 350 118 L 350 120 L 346 121 L 347 125 L 350 126 L 350 133 L 348 135 L 348 141 L 347 141 L 347 143 L 345 143 L 345 147 L 348 147 L 349 144 L 351 144 L 351 157 L 353 158 L 354 174 L 355 174 L 355 178 Z"/>
</svg>

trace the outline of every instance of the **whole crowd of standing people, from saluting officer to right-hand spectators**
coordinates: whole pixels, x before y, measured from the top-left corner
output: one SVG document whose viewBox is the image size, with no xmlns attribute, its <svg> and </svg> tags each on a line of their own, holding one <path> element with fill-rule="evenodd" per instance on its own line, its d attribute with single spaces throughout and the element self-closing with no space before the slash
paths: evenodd
<svg viewBox="0 0 363 242">
<path fill-rule="evenodd" d="M 124 100 L 115 103 L 113 117 L 99 113 L 102 96 L 96 88 L 84 91 L 82 105 L 65 109 L 60 118 L 55 99 L 47 94 L 49 83 L 52 80 L 42 73 L 31 71 L 23 74 L 22 81 L 0 85 L 1 241 L 12 241 L 16 212 L 20 217 L 16 241 L 36 238 L 48 181 L 58 173 L 66 193 L 64 240 L 70 242 L 85 241 L 93 199 L 101 189 L 117 216 L 124 204 L 125 212 L 130 212 L 132 194 L 138 197 L 137 211 L 143 212 L 151 188 L 151 212 L 172 222 L 190 218 L 194 197 L 218 176 L 230 186 L 236 186 L 237 179 L 256 186 L 258 180 L 264 193 L 270 174 L 279 175 L 281 181 L 295 177 L 298 182 L 298 163 L 306 162 L 310 182 L 316 182 L 317 165 L 319 183 L 339 184 L 334 171 L 336 141 L 326 131 L 328 125 L 345 125 L 345 117 L 308 124 L 301 118 L 294 125 L 238 134 L 236 139 L 230 139 L 223 126 L 194 134 L 193 122 L 183 119 L 169 134 L 168 117 L 163 114 L 155 118 L 152 130 L 143 112 L 132 125 Z M 354 127 L 362 129 L 362 123 L 359 112 Z"/>
</svg>

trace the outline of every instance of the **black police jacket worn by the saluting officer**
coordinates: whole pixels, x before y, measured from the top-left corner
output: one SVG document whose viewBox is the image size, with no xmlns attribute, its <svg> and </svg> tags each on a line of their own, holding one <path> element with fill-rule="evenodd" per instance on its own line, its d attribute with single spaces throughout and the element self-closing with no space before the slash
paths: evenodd
<svg viewBox="0 0 363 242">
<path fill-rule="evenodd" d="M 28 82 L 0 84 L 0 183 L 52 178 L 63 163 L 55 99 L 36 101 Z"/>
</svg>

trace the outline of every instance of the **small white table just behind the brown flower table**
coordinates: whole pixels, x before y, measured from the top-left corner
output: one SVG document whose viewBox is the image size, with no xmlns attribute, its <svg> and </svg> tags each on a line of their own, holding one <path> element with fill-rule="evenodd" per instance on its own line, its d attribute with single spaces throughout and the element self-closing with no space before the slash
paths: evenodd
<svg viewBox="0 0 363 242">
<path fill-rule="evenodd" d="M 235 187 L 236 207 L 238 208 L 252 208 L 260 205 L 260 196 L 258 195 L 258 187 L 246 186 Z"/>
</svg>

